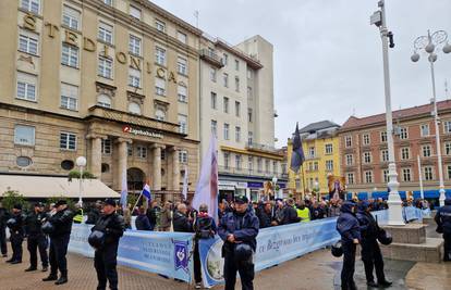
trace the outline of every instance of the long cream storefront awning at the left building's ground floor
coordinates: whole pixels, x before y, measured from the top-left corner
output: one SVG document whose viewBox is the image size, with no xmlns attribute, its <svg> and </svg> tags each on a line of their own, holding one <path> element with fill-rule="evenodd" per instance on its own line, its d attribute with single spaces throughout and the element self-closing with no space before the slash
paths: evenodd
<svg viewBox="0 0 451 290">
<path fill-rule="evenodd" d="M 8 190 L 16 190 L 25 198 L 68 197 L 78 198 L 78 179 L 68 177 L 0 175 L 0 194 Z M 98 179 L 83 180 L 84 199 L 119 198 L 120 194 Z"/>
</svg>

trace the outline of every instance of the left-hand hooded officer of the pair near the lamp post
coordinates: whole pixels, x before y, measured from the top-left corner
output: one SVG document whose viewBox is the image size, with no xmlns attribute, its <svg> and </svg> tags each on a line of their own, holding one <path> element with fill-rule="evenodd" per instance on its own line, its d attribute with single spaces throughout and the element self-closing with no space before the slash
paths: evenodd
<svg viewBox="0 0 451 290">
<path fill-rule="evenodd" d="M 355 290 L 354 281 L 355 251 L 361 240 L 361 229 L 355 217 L 356 205 L 346 201 L 340 209 L 341 214 L 337 219 L 337 230 L 340 232 L 343 248 L 343 268 L 341 269 L 341 289 Z"/>
</svg>

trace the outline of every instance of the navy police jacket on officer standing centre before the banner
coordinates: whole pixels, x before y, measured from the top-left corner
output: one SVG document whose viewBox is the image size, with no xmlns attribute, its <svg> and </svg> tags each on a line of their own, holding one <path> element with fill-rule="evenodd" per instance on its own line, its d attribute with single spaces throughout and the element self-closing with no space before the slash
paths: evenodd
<svg viewBox="0 0 451 290">
<path fill-rule="evenodd" d="M 227 237 L 233 234 L 236 241 L 247 243 L 255 252 L 257 248 L 256 238 L 258 235 L 258 217 L 249 209 L 247 209 L 243 214 L 240 214 L 235 211 L 224 214 L 218 228 L 218 235 L 224 241 L 222 251 L 233 251 L 234 244 L 227 240 Z"/>
</svg>

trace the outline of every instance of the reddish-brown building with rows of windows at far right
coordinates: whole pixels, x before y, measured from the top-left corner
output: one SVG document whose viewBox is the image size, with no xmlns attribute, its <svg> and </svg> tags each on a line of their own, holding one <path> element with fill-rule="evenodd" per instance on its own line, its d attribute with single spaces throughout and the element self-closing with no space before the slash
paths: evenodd
<svg viewBox="0 0 451 290">
<path fill-rule="evenodd" d="M 444 187 L 451 186 L 451 101 L 437 103 Z M 432 104 L 393 111 L 394 159 L 400 193 L 419 197 L 419 178 L 426 198 L 439 197 L 436 130 Z M 339 130 L 342 174 L 349 192 L 386 197 L 388 147 L 386 115 L 351 116 Z M 418 164 L 419 159 L 419 164 Z"/>
</svg>

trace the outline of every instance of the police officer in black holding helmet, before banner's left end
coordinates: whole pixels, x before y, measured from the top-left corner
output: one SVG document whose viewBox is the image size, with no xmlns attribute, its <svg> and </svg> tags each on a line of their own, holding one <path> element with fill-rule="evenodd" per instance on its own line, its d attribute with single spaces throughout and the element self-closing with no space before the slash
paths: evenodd
<svg viewBox="0 0 451 290">
<path fill-rule="evenodd" d="M 117 256 L 119 239 L 125 230 L 125 222 L 122 215 L 115 213 L 115 201 L 106 199 L 103 202 L 102 215 L 93 227 L 92 231 L 101 231 L 105 234 L 102 247 L 96 249 L 94 266 L 97 272 L 98 286 L 97 290 L 105 290 L 107 279 L 110 289 L 118 289 Z"/>
</svg>

